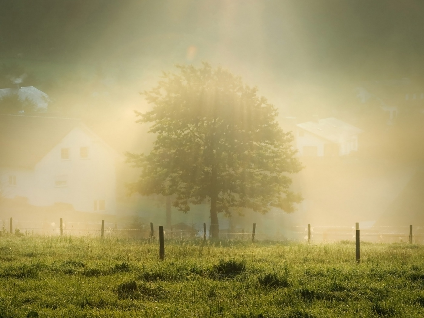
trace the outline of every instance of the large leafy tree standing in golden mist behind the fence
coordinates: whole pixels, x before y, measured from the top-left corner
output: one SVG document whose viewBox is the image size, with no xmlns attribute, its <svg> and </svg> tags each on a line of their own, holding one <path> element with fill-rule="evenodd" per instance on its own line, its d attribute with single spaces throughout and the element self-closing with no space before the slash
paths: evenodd
<svg viewBox="0 0 424 318">
<path fill-rule="evenodd" d="M 127 153 L 142 170 L 131 190 L 174 195 L 173 206 L 182 212 L 209 201 L 212 238 L 218 237 L 219 212 L 295 211 L 302 198 L 290 191 L 287 174 L 302 167 L 276 108 L 221 67 L 177 68 L 143 93 L 153 109 L 136 112 L 136 122 L 152 123 L 149 132 L 157 139 L 148 155 Z"/>
</svg>

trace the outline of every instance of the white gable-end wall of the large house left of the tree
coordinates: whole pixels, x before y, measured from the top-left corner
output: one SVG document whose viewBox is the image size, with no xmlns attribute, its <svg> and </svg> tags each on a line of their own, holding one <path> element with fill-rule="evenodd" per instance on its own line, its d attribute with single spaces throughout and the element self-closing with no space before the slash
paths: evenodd
<svg viewBox="0 0 424 318">
<path fill-rule="evenodd" d="M 88 158 L 81 158 L 80 148 L 88 147 Z M 69 159 L 61 159 L 61 149 L 69 148 Z M 116 213 L 115 155 L 94 134 L 76 127 L 70 131 L 33 170 L 4 170 L 6 196 L 24 196 L 28 203 L 50 206 L 72 204 L 77 211 Z M 17 185 L 7 185 L 8 175 L 16 173 Z M 62 181 L 62 184 L 56 184 Z M 66 184 L 63 184 L 66 181 Z M 104 200 L 106 209 L 94 209 L 94 201 Z"/>
</svg>

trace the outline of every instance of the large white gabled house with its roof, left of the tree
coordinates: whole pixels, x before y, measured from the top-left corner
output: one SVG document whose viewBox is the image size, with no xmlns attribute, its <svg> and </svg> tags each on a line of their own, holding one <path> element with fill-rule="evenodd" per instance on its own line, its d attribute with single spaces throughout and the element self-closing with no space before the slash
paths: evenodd
<svg viewBox="0 0 424 318">
<path fill-rule="evenodd" d="M 115 214 L 117 154 L 80 120 L 0 115 L 0 149 L 4 197 Z"/>
</svg>

